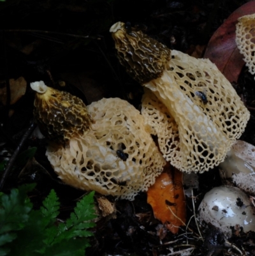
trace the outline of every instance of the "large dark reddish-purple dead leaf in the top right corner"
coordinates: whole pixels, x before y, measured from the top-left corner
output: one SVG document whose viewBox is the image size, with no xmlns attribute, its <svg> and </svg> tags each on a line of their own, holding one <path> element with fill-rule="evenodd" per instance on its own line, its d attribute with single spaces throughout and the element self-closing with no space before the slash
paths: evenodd
<svg viewBox="0 0 255 256">
<path fill-rule="evenodd" d="M 210 59 L 230 82 L 237 82 L 244 66 L 244 56 L 235 43 L 235 25 L 239 17 L 252 13 L 255 13 L 255 1 L 235 10 L 215 31 L 205 51 L 204 57 Z"/>
</svg>

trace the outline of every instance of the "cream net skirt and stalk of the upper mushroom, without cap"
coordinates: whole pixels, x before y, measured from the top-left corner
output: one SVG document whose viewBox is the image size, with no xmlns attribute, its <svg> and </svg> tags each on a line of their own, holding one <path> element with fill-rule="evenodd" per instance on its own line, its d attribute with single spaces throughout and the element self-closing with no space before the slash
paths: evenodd
<svg viewBox="0 0 255 256">
<path fill-rule="evenodd" d="M 168 70 L 144 86 L 156 94 L 178 126 L 179 142 L 168 135 L 161 152 L 183 171 L 204 172 L 222 162 L 233 142 L 244 132 L 250 116 L 235 89 L 214 64 L 177 50 L 171 51 Z M 152 119 L 147 123 L 157 124 L 163 117 L 157 114 L 158 109 L 152 110 L 153 102 L 152 98 L 149 105 L 147 100 L 146 105 L 151 109 L 146 110 L 145 117 Z M 171 133 L 176 127 L 170 120 L 168 128 L 158 122 L 161 128 L 156 131 L 157 137 L 164 138 L 166 129 Z"/>
</svg>

